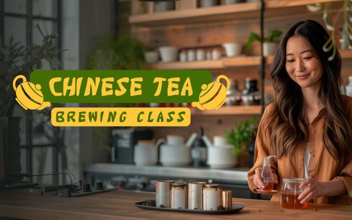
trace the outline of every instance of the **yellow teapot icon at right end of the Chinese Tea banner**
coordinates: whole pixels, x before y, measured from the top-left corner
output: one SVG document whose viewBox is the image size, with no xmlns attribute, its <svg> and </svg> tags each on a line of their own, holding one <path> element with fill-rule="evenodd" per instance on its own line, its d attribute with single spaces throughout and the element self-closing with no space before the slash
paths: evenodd
<svg viewBox="0 0 352 220">
<path fill-rule="evenodd" d="M 226 80 L 226 87 L 220 82 L 220 79 Z M 224 75 L 219 75 L 216 81 L 209 84 L 202 84 L 202 91 L 199 94 L 199 101 L 193 101 L 192 106 L 200 110 L 217 109 L 226 101 L 226 92 L 230 86 L 228 78 Z"/>
</svg>

